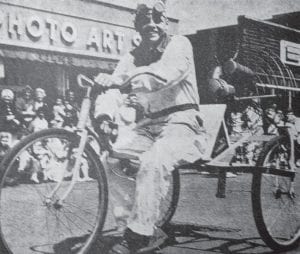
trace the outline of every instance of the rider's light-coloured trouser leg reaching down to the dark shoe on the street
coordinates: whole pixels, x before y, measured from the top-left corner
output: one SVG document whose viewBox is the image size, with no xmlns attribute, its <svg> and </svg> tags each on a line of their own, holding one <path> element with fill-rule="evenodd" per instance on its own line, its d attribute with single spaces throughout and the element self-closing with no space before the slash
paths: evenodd
<svg viewBox="0 0 300 254">
<path fill-rule="evenodd" d="M 135 203 L 128 228 L 141 235 L 152 235 L 160 214 L 160 203 L 170 186 L 175 167 L 201 157 L 195 131 L 186 124 L 169 124 L 149 151 L 140 156 L 141 166 L 136 178 Z M 205 137 L 202 145 L 205 146 Z M 200 135 L 201 136 L 201 135 Z"/>
</svg>

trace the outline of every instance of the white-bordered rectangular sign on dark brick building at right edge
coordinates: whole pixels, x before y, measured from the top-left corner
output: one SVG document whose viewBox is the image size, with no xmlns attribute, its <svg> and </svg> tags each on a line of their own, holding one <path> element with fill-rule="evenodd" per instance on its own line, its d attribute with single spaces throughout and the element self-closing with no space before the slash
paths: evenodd
<svg viewBox="0 0 300 254">
<path fill-rule="evenodd" d="M 300 44 L 281 40 L 280 59 L 285 64 L 300 66 Z"/>
</svg>

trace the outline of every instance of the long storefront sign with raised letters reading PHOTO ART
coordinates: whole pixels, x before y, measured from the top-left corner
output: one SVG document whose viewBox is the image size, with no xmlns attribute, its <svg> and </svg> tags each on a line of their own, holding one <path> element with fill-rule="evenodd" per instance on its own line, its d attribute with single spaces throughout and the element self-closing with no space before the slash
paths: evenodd
<svg viewBox="0 0 300 254">
<path fill-rule="evenodd" d="M 43 11 L 0 11 L 0 44 L 118 59 L 139 43 L 133 29 Z"/>
</svg>

